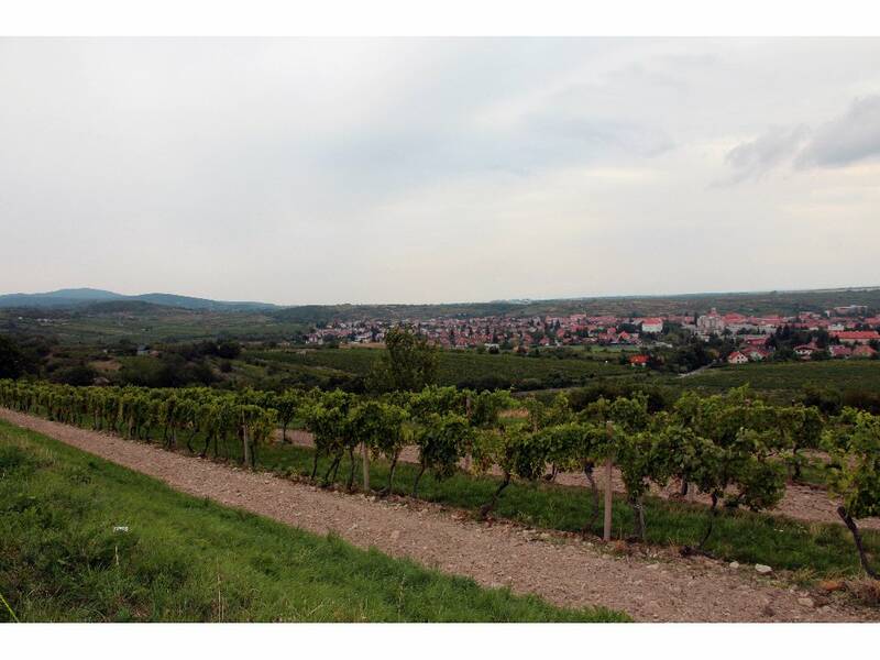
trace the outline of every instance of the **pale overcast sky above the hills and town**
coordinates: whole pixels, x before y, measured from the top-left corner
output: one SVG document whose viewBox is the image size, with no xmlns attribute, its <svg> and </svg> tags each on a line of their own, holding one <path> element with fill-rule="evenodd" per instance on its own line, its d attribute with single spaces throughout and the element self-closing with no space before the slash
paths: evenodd
<svg viewBox="0 0 880 660">
<path fill-rule="evenodd" d="M 880 285 L 880 38 L 2 38 L 0 293 Z"/>
</svg>

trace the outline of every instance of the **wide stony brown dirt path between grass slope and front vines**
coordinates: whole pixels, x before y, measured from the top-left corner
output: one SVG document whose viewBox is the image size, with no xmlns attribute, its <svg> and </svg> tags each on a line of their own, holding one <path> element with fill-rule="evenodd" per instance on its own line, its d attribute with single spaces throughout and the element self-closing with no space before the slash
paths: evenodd
<svg viewBox="0 0 880 660">
<path fill-rule="evenodd" d="M 0 418 L 208 497 L 316 532 L 336 532 L 361 548 L 375 547 L 486 586 L 507 585 L 562 606 L 604 605 L 647 622 L 876 620 L 880 613 L 828 601 L 757 576 L 670 552 L 616 557 L 601 544 L 524 529 L 486 525 L 461 512 L 418 502 L 362 495 L 244 472 L 0 408 Z"/>
</svg>

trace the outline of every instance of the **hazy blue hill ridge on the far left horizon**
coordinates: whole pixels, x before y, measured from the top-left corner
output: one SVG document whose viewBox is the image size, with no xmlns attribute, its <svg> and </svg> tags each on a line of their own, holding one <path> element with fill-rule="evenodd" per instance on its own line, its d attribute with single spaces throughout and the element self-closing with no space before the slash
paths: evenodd
<svg viewBox="0 0 880 660">
<path fill-rule="evenodd" d="M 191 296 L 177 296 L 175 294 L 141 294 L 139 296 L 125 296 L 123 294 L 94 288 L 67 288 L 47 292 L 45 294 L 0 295 L 0 308 L 62 308 L 81 307 L 96 302 L 124 301 L 140 301 L 152 305 L 163 305 L 165 307 L 216 311 L 257 311 L 276 308 L 275 305 L 268 302 L 211 300 L 208 298 L 194 298 Z"/>
</svg>

